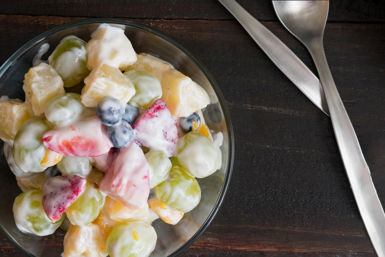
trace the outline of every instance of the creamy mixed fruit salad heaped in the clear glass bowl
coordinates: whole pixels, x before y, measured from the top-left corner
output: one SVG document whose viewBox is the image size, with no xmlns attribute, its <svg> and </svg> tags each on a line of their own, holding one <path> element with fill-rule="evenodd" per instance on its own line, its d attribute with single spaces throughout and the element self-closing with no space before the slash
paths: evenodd
<svg viewBox="0 0 385 257">
<path fill-rule="evenodd" d="M 152 222 L 177 224 L 201 200 L 196 178 L 221 167 L 221 133 L 202 114 L 208 94 L 109 24 L 89 42 L 65 37 L 34 65 L 25 102 L 0 98 L 0 138 L 23 191 L 17 227 L 66 230 L 63 257 L 148 256 Z"/>
</svg>

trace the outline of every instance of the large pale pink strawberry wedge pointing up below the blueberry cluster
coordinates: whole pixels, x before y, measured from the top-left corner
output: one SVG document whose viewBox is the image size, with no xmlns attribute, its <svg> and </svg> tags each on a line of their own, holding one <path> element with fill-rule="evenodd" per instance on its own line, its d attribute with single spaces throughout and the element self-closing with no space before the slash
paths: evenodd
<svg viewBox="0 0 385 257">
<path fill-rule="evenodd" d="M 99 190 L 130 208 L 143 208 L 147 204 L 149 164 L 135 142 L 117 154 L 100 182 Z"/>
</svg>

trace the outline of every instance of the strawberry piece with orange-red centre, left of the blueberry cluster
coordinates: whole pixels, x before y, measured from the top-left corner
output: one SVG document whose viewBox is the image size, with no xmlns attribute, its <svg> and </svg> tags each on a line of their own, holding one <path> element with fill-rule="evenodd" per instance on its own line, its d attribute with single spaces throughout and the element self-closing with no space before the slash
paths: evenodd
<svg viewBox="0 0 385 257">
<path fill-rule="evenodd" d="M 69 126 L 57 126 L 43 134 L 42 142 L 52 151 L 71 156 L 100 156 L 112 147 L 96 115 Z"/>
</svg>

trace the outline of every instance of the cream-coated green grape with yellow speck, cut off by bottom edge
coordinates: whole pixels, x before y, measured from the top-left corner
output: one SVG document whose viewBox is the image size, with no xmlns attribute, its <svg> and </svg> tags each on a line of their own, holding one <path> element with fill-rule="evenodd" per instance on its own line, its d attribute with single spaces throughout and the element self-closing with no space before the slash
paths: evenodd
<svg viewBox="0 0 385 257">
<path fill-rule="evenodd" d="M 117 226 L 107 237 L 110 257 L 147 257 L 156 244 L 154 228 L 144 221 L 129 221 Z"/>
</svg>

